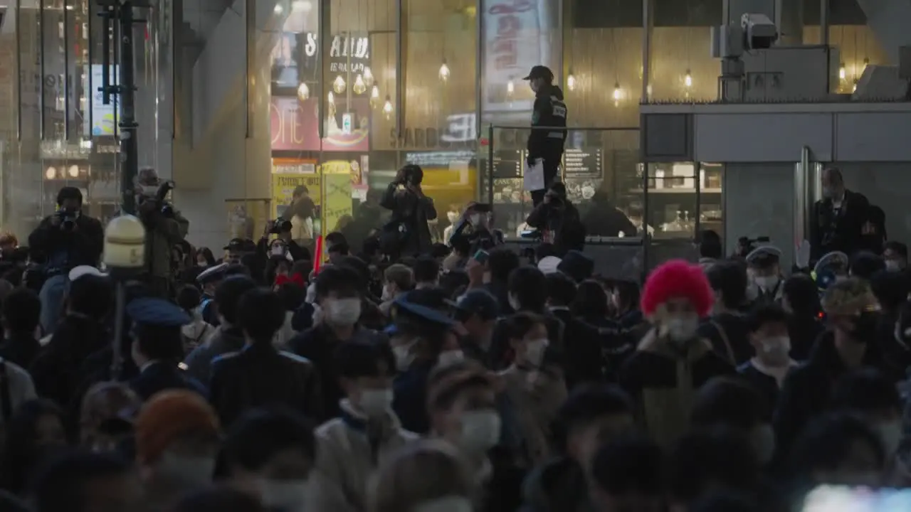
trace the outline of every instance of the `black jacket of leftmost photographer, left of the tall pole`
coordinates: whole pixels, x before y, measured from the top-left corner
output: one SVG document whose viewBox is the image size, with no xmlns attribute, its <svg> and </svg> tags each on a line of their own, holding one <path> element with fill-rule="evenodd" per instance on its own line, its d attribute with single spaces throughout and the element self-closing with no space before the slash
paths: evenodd
<svg viewBox="0 0 911 512">
<path fill-rule="evenodd" d="M 56 216 L 55 213 L 45 217 L 32 234 L 28 235 L 29 249 L 45 254 L 48 259 L 61 251 L 66 251 L 66 268 L 60 271 L 69 271 L 79 265 L 97 266 L 105 243 L 105 231 L 101 227 L 101 222 L 87 215 L 80 215 L 76 220 L 76 229 L 67 231 L 51 224 L 51 220 Z"/>
</svg>

